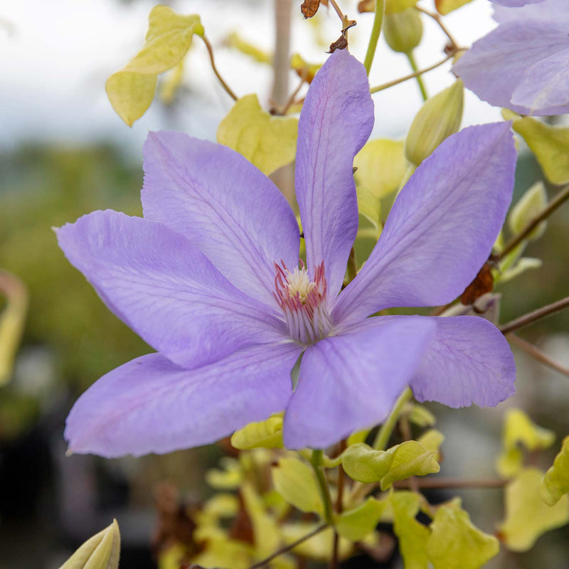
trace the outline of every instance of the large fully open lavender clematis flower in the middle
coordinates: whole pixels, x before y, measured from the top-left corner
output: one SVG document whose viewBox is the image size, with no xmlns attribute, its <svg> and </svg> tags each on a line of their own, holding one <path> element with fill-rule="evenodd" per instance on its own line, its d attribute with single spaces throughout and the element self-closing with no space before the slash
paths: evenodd
<svg viewBox="0 0 569 569">
<path fill-rule="evenodd" d="M 353 157 L 372 127 L 363 65 L 337 50 L 299 119 L 306 264 L 294 213 L 270 179 L 235 151 L 179 132 L 152 133 L 144 146 L 144 218 L 96 211 L 58 230 L 70 262 L 157 351 L 80 397 L 65 429 L 71 451 L 170 452 L 280 410 L 287 447 L 324 448 L 383 420 L 407 385 L 452 407 L 514 393 L 511 351 L 489 321 L 368 318 L 444 304 L 472 281 L 511 199 L 509 125 L 464 129 L 425 160 L 341 291 L 358 228 Z"/>
</svg>

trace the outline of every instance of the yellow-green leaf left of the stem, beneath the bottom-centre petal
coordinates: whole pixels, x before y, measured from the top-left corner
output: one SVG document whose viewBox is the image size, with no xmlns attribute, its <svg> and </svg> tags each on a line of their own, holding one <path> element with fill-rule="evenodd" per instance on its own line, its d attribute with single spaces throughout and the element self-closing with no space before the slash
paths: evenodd
<svg viewBox="0 0 569 569">
<path fill-rule="evenodd" d="M 314 471 L 304 462 L 282 458 L 272 469 L 272 481 L 277 492 L 296 509 L 321 514 L 323 511 Z"/>
</svg>

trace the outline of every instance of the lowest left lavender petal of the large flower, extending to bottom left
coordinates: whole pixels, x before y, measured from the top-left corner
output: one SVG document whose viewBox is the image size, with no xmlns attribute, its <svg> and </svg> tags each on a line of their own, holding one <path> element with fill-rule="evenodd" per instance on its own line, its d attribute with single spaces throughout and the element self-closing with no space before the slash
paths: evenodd
<svg viewBox="0 0 569 569">
<path fill-rule="evenodd" d="M 71 452 L 120 457 L 207 445 L 285 408 L 296 344 L 254 346 L 191 371 L 159 353 L 107 373 L 73 406 Z"/>
</svg>

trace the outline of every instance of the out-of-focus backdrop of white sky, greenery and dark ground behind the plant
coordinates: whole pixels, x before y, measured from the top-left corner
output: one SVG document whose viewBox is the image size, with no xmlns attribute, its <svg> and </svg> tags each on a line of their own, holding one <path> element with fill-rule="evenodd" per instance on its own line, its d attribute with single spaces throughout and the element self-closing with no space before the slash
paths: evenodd
<svg viewBox="0 0 569 569">
<path fill-rule="evenodd" d="M 179 0 L 181 13 L 201 14 L 224 78 L 245 95 L 258 92 L 271 104 L 273 70 L 227 46 L 237 31 L 271 52 L 275 4 L 289 0 Z M 321 9 L 315 21 L 292 2 L 292 51 L 314 62 L 339 33 L 336 16 Z M 431 0 L 421 3 L 432 7 Z M 30 307 L 14 376 L 0 388 L 0 569 L 58 568 L 85 538 L 119 521 L 122 569 L 154 567 L 150 538 L 156 528 L 157 485 L 170 482 L 189 501 L 211 494 L 203 472 L 222 451 L 207 447 L 166 456 L 105 460 L 65 456 L 65 416 L 93 381 L 131 358 L 150 351 L 105 309 L 87 282 L 66 262 L 51 228 L 96 209 L 142 214 L 142 142 L 149 129 L 179 129 L 215 139 L 231 100 L 216 83 L 203 45 L 193 46 L 184 84 L 169 104 L 156 100 L 126 127 L 105 96 L 105 79 L 142 45 L 147 0 L 4 0 L 0 4 L 0 267 L 28 287 Z M 363 58 L 371 15 L 356 13 L 351 50 Z M 282 6 L 281 6 L 282 9 Z M 494 23 L 487 0 L 474 0 L 447 18 L 464 45 Z M 420 66 L 440 59 L 444 38 L 425 21 L 418 50 Z M 408 73 L 403 55 L 381 43 L 372 85 Z M 448 66 L 425 76 L 430 92 L 450 85 Z M 297 85 L 290 73 L 289 89 Z M 402 138 L 420 107 L 413 82 L 374 95 L 373 137 Z M 464 124 L 499 119 L 499 110 L 467 94 Z M 541 174 L 523 149 L 516 198 Z M 287 179 L 282 174 L 281 180 Z M 501 321 L 564 297 L 568 291 L 569 208 L 553 216 L 546 235 L 527 254 L 543 260 L 539 270 L 501 287 Z M 1 300 L 0 300 L 1 303 Z M 0 307 L 2 304 L 0 304 Z M 523 331 L 523 336 L 569 366 L 569 315 L 559 314 Z M 501 420 L 508 406 L 524 408 L 538 424 L 563 437 L 569 432 L 569 379 L 515 350 L 518 394 L 494 410 L 431 409 L 445 432 L 445 476 L 494 477 Z M 554 447 L 556 448 L 556 447 Z M 555 451 L 537 457 L 551 464 Z M 454 493 L 456 494 L 456 493 Z M 453 495 L 454 495 L 453 494 Z M 463 491 L 474 523 L 494 531 L 501 518 L 500 490 Z M 439 493 L 433 499 L 445 499 Z M 569 531 L 538 541 L 529 554 L 501 553 L 494 568 L 569 567 Z M 348 566 L 348 565 L 346 565 Z M 351 567 L 379 567 L 359 558 Z M 387 566 L 387 565 L 381 565 Z M 399 567 L 394 558 L 390 567 Z"/>
</svg>

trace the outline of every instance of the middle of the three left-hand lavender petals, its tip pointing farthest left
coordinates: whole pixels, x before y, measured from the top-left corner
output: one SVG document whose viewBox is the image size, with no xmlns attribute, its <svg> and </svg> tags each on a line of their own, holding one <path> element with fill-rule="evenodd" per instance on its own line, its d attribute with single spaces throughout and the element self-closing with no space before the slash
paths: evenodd
<svg viewBox="0 0 569 569">
<path fill-rule="evenodd" d="M 95 211 L 57 233 L 68 260 L 112 312 L 180 366 L 201 366 L 285 334 L 265 304 L 238 291 L 160 223 Z"/>
</svg>

